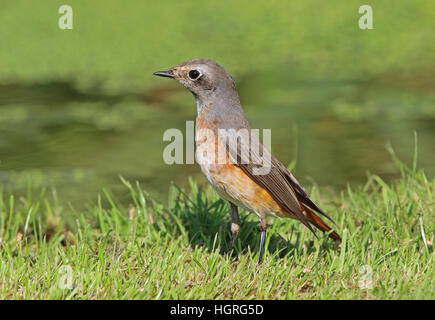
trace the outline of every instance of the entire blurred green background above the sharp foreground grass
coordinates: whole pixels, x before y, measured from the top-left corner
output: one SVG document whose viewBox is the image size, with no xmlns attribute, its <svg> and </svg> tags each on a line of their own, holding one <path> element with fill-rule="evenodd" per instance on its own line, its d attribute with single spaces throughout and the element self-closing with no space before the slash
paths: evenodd
<svg viewBox="0 0 435 320">
<path fill-rule="evenodd" d="M 73 8 L 73 30 L 58 9 Z M 370 4 L 374 30 L 360 30 Z M 0 3 L 0 184 L 56 187 L 80 206 L 119 175 L 166 199 L 197 165 L 162 160 L 168 128 L 195 118 L 190 93 L 152 76 L 216 60 L 254 128 L 304 183 L 340 189 L 367 171 L 393 179 L 386 151 L 435 173 L 435 1 L 143 1 Z"/>
</svg>

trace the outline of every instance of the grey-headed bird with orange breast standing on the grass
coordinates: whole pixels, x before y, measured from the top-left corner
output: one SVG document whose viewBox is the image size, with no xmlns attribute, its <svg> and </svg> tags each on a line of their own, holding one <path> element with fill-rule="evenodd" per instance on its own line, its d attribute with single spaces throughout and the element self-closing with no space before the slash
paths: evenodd
<svg viewBox="0 0 435 320">
<path fill-rule="evenodd" d="M 232 235 L 229 252 L 240 230 L 239 207 L 259 219 L 258 266 L 262 262 L 268 217 L 299 220 L 315 236 L 312 226 L 341 241 L 320 216 L 336 223 L 311 200 L 286 166 L 261 144 L 258 135 L 252 134 L 235 82 L 221 65 L 209 59 L 192 59 L 153 75 L 177 80 L 195 97 L 195 157 L 208 182 L 229 203 Z M 262 155 L 268 161 L 263 161 Z"/>
</svg>

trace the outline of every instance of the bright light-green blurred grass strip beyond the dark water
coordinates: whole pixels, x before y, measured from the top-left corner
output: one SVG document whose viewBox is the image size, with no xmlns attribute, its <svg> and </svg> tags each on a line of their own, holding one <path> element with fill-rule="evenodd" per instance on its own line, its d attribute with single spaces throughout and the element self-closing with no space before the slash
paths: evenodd
<svg viewBox="0 0 435 320">
<path fill-rule="evenodd" d="M 0 79 L 61 78 L 92 91 L 128 92 L 153 85 L 155 70 L 200 57 L 218 60 L 236 79 L 279 77 L 277 89 L 294 73 L 309 81 L 430 74 L 434 2 L 368 3 L 370 31 L 358 28 L 357 0 L 75 0 L 74 29 L 62 31 L 64 1 L 4 0 Z"/>
</svg>

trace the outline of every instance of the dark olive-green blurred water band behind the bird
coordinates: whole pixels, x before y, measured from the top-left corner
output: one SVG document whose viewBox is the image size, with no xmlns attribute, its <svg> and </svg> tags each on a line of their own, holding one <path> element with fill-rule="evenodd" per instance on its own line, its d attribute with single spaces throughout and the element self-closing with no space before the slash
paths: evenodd
<svg viewBox="0 0 435 320">
<path fill-rule="evenodd" d="M 95 200 L 103 187 L 127 201 L 119 176 L 139 181 L 163 201 L 171 181 L 183 186 L 191 175 L 204 182 L 197 165 L 163 162 L 168 144 L 162 139 L 164 131 L 184 132 L 185 121 L 193 120 L 196 110 L 193 97 L 175 82 L 157 78 L 155 82 L 147 92 L 118 96 L 79 93 L 67 83 L 1 87 L 5 104 L 0 106 L 0 183 L 19 192 L 29 182 L 55 186 L 61 199 L 79 205 Z M 336 110 L 336 100 L 351 100 L 339 94 L 349 92 L 348 85 L 292 85 L 287 94 L 280 93 L 285 98 L 269 102 L 274 89 L 265 86 L 264 95 L 260 94 L 257 87 L 262 84 L 254 81 L 240 86 L 240 96 L 251 125 L 272 129 L 274 154 L 285 164 L 296 159 L 294 172 L 302 182 L 340 189 L 347 183 L 363 183 L 368 171 L 393 179 L 399 172 L 386 143 L 391 142 L 398 156 L 411 163 L 414 131 L 419 165 L 433 176 L 435 121 L 395 119 L 395 112 L 364 119 L 357 110 L 353 110 L 357 115 L 349 113 L 350 106 L 342 114 Z M 355 86 L 358 90 L 360 85 Z M 380 90 L 376 97 L 384 93 Z M 400 94 L 387 96 L 393 99 Z M 291 99 L 292 95 L 300 97 Z"/>
</svg>

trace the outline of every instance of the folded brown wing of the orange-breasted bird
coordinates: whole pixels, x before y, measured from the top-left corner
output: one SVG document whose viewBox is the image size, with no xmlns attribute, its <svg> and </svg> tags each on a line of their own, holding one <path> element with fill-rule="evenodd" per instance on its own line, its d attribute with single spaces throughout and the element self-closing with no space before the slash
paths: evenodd
<svg viewBox="0 0 435 320">
<path fill-rule="evenodd" d="M 234 138 L 234 134 L 230 135 Z M 239 134 L 236 142 L 222 136 L 219 138 L 229 152 L 232 163 L 240 167 L 255 183 L 267 190 L 274 200 L 284 209 L 291 212 L 310 231 L 313 231 L 309 220 L 302 212 L 300 203 L 318 211 L 329 218 L 314 202 L 299 184 L 296 178 L 265 148 L 258 136 Z"/>
</svg>

